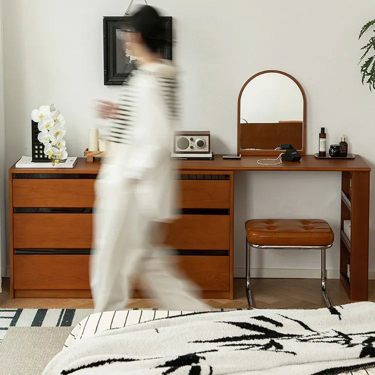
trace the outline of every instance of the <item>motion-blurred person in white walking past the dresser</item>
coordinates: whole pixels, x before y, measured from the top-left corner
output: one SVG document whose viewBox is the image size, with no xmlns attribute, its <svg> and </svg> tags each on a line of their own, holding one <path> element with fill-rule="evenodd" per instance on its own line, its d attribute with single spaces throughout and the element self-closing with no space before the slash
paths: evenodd
<svg viewBox="0 0 375 375">
<path fill-rule="evenodd" d="M 210 309 L 194 286 L 172 270 L 159 247 L 162 223 L 173 219 L 175 180 L 170 159 L 176 117 L 176 68 L 158 58 L 162 21 L 142 6 L 126 32 L 134 69 L 117 103 L 101 102 L 111 121 L 110 151 L 95 183 L 96 214 L 90 261 L 95 311 L 123 309 L 131 281 L 141 276 L 150 297 L 170 310 Z"/>
</svg>

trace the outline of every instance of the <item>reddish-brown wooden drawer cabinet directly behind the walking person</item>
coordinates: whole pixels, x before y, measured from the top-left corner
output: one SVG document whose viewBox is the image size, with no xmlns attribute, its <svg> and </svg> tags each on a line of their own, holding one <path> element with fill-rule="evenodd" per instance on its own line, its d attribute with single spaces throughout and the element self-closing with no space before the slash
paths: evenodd
<svg viewBox="0 0 375 375">
<path fill-rule="evenodd" d="M 89 297 L 94 181 L 99 163 L 9 168 L 11 297 Z M 206 298 L 233 298 L 233 172 L 178 170 L 174 258 Z M 174 259 L 175 260 L 175 259 Z"/>
</svg>

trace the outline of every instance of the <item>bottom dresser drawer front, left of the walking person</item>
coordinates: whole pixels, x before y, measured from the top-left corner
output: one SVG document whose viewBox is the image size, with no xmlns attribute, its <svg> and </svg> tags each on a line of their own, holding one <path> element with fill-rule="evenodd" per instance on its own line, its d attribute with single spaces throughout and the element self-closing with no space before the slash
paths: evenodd
<svg viewBox="0 0 375 375">
<path fill-rule="evenodd" d="M 89 289 L 90 255 L 14 255 L 14 289 Z"/>
</svg>

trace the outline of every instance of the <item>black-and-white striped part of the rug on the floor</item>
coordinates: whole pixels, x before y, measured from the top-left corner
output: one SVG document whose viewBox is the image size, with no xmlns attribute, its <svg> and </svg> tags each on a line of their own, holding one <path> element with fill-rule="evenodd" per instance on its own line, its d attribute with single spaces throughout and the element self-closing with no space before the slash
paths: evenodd
<svg viewBox="0 0 375 375">
<path fill-rule="evenodd" d="M 0 343 L 9 327 L 70 327 L 91 313 L 90 308 L 0 308 Z"/>
</svg>

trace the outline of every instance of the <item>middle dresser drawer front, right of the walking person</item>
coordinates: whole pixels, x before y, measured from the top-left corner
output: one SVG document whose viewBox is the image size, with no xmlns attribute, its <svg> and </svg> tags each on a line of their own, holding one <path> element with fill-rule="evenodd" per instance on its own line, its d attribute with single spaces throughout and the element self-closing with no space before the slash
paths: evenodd
<svg viewBox="0 0 375 375">
<path fill-rule="evenodd" d="M 181 215 L 167 227 L 166 243 L 178 250 L 228 250 L 229 215 Z"/>
</svg>

